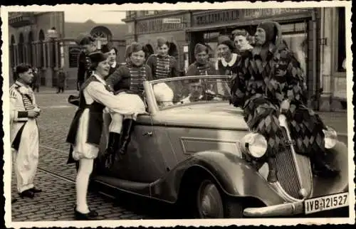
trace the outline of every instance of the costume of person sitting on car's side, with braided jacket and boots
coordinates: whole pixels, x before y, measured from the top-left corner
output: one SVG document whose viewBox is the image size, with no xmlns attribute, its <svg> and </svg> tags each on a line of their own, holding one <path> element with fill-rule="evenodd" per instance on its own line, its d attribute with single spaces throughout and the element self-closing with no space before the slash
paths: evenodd
<svg viewBox="0 0 356 229">
<path fill-rule="evenodd" d="M 130 61 L 132 53 L 140 50 L 143 50 L 143 47 L 138 43 L 128 46 L 126 50 L 127 63 L 120 65 L 115 73 L 112 73 L 106 80 L 109 89 L 122 101 L 122 105 L 132 107 L 136 114 L 146 112 L 145 102 L 143 102 L 143 82 L 152 80 L 151 69 L 148 65 L 142 63 L 138 66 Z M 119 154 L 126 153 L 131 133 L 135 127 L 136 115 L 124 116 L 120 112 L 111 113 L 112 122 L 110 125 L 120 125 L 122 122 L 121 134 L 120 132 L 109 133 L 108 152 L 112 157 L 115 157 L 117 151 Z"/>
</svg>

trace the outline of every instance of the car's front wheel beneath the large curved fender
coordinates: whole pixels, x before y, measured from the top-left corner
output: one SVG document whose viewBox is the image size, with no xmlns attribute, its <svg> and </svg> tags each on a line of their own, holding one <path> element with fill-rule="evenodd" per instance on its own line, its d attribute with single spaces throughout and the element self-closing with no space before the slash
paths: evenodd
<svg viewBox="0 0 356 229">
<path fill-rule="evenodd" d="M 206 179 L 198 188 L 197 213 L 199 218 L 242 218 L 244 208 L 238 198 L 221 195 L 218 186 Z"/>
</svg>

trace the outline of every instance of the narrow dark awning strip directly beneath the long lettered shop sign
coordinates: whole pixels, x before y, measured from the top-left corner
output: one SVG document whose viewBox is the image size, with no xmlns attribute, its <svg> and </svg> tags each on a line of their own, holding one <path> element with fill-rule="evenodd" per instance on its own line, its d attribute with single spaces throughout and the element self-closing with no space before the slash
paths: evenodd
<svg viewBox="0 0 356 229">
<path fill-rule="evenodd" d="M 236 21 L 234 23 L 226 23 L 226 24 L 217 24 L 217 25 L 208 25 L 208 26 L 196 26 L 186 28 L 186 32 L 194 32 L 194 31 L 211 31 L 216 30 L 218 28 L 235 28 L 240 26 L 257 26 L 259 23 L 267 20 L 277 21 L 279 23 L 288 23 L 288 22 L 295 22 L 295 21 L 303 21 L 305 18 L 311 18 L 310 13 L 303 13 L 303 14 L 293 14 L 289 16 L 274 16 L 273 18 L 256 18 L 253 20 L 248 21 Z"/>
</svg>

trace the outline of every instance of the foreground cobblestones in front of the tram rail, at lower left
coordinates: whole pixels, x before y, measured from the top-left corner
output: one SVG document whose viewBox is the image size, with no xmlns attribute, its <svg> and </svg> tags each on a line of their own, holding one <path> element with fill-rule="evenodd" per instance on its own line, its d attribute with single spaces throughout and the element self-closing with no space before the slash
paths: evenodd
<svg viewBox="0 0 356 229">
<path fill-rule="evenodd" d="M 13 176 L 14 178 L 14 176 Z M 38 170 L 35 179 L 36 186 L 42 188 L 42 193 L 36 193 L 35 198 L 19 198 L 11 206 L 13 221 L 54 221 L 74 220 L 75 183 L 58 179 L 51 174 Z M 12 193 L 16 187 L 12 186 Z M 98 211 L 98 220 L 143 219 L 147 216 L 137 215 L 132 211 L 117 206 L 112 198 L 88 193 L 90 208 Z"/>
</svg>

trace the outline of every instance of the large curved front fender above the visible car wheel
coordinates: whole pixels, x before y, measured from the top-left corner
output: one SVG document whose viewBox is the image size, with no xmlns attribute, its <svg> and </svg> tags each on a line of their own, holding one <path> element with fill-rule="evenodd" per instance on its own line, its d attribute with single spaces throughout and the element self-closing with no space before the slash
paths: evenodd
<svg viewBox="0 0 356 229">
<path fill-rule="evenodd" d="M 229 196 L 258 198 L 266 206 L 285 202 L 244 159 L 230 152 L 216 150 L 193 154 L 169 171 L 167 176 L 152 183 L 152 197 L 164 198 L 169 202 L 177 201 L 184 174 L 197 167 L 208 172 Z"/>
</svg>

